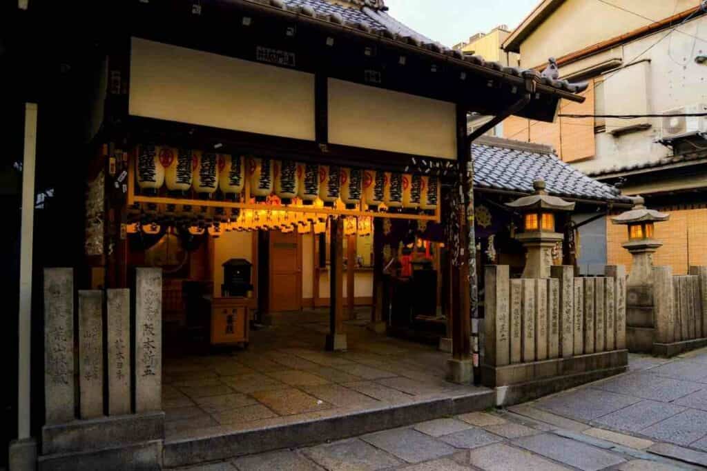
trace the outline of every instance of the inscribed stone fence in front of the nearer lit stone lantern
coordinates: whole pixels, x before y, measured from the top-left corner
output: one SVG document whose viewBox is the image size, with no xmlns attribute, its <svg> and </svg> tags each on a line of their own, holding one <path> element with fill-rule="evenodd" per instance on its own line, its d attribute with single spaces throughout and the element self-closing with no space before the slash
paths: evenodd
<svg viewBox="0 0 707 471">
<path fill-rule="evenodd" d="M 481 381 L 510 405 L 625 371 L 626 271 L 575 278 L 554 266 L 552 278 L 509 278 L 486 267 Z"/>
</svg>

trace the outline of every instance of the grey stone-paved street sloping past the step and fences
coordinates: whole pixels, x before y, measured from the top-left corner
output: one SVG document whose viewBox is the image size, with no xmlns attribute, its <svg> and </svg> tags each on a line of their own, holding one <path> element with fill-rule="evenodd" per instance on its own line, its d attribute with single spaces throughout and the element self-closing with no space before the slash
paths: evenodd
<svg viewBox="0 0 707 471">
<path fill-rule="evenodd" d="M 682 470 L 707 467 L 707 350 L 510 407 L 182 468 Z"/>
</svg>

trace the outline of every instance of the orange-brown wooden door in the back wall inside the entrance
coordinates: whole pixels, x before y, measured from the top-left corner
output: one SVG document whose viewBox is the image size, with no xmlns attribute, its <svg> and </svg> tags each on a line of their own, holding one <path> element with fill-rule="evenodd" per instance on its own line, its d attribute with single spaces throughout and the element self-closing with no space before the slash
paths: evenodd
<svg viewBox="0 0 707 471">
<path fill-rule="evenodd" d="M 271 231 L 269 287 L 271 312 L 302 309 L 302 237 Z"/>
</svg>

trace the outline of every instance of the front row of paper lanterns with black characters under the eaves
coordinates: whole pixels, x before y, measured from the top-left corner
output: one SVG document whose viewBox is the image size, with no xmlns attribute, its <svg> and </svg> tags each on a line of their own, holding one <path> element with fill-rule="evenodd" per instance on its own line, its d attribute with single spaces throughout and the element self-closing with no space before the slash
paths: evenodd
<svg viewBox="0 0 707 471">
<path fill-rule="evenodd" d="M 247 166 L 247 168 L 246 168 Z M 264 157 L 233 156 L 143 145 L 136 159 L 136 181 L 143 194 L 156 194 L 163 186 L 172 195 L 190 190 L 211 198 L 238 201 L 250 179 L 250 196 L 264 201 L 278 196 L 284 204 L 298 198 L 303 204 L 317 199 L 327 206 L 341 200 L 348 209 L 366 203 L 372 210 L 387 208 L 434 211 L 438 205 L 438 179 L 418 174 L 379 172 L 335 165 L 317 165 Z"/>
</svg>

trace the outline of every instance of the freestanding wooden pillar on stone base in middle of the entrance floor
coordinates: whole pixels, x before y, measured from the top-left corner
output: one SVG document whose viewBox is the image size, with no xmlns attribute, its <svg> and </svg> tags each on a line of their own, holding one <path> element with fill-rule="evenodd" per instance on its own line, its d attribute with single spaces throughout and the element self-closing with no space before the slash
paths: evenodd
<svg viewBox="0 0 707 471">
<path fill-rule="evenodd" d="M 344 218 L 329 222 L 331 242 L 329 244 L 329 335 L 327 350 L 346 350 L 344 332 Z"/>
</svg>

